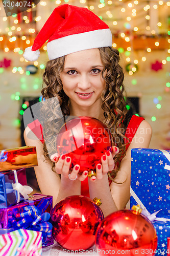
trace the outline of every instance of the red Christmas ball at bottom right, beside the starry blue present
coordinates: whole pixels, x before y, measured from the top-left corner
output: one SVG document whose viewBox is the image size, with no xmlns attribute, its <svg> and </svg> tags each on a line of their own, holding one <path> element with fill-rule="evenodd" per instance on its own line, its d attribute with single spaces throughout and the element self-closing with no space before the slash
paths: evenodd
<svg viewBox="0 0 170 256">
<path fill-rule="evenodd" d="M 157 234 L 147 217 L 133 210 L 119 210 L 100 223 L 96 231 L 95 244 L 101 256 L 151 256 L 156 252 Z"/>
</svg>

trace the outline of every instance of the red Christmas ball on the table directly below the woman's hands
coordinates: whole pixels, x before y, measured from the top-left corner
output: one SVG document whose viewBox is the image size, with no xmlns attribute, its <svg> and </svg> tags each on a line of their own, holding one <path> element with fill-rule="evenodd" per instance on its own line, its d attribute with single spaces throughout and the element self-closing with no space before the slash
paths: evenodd
<svg viewBox="0 0 170 256">
<path fill-rule="evenodd" d="M 70 196 L 52 210 L 53 238 L 68 250 L 88 249 L 95 242 L 95 232 L 104 219 L 103 212 L 90 198 Z"/>
</svg>

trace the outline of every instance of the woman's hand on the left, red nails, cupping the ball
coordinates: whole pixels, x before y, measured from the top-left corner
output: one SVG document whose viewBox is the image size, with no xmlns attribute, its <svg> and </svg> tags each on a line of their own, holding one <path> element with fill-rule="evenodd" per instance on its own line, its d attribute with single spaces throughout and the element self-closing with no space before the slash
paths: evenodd
<svg viewBox="0 0 170 256">
<path fill-rule="evenodd" d="M 78 174 L 80 169 L 80 165 L 78 164 L 73 167 L 72 172 L 70 173 L 70 157 L 66 157 L 64 155 L 59 157 L 58 154 L 54 154 L 51 156 L 51 161 L 55 162 L 56 173 L 63 175 L 66 179 L 71 181 L 76 179 L 83 181 L 88 175 L 87 170 L 85 170 L 82 174 Z"/>
</svg>

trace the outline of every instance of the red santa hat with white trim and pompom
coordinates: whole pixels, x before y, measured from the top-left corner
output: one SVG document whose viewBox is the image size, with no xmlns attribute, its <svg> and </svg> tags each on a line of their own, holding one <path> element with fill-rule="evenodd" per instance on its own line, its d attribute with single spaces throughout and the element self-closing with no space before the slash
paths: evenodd
<svg viewBox="0 0 170 256">
<path fill-rule="evenodd" d="M 33 46 L 26 48 L 23 57 L 30 61 L 37 60 L 39 49 L 46 40 L 49 59 L 86 49 L 112 46 L 112 34 L 106 23 L 87 8 L 67 4 L 54 9 L 36 36 Z"/>
</svg>

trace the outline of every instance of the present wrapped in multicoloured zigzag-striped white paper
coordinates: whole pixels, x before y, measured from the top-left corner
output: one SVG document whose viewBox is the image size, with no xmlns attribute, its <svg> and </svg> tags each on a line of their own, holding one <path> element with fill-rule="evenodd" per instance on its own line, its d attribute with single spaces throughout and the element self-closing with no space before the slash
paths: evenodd
<svg viewBox="0 0 170 256">
<path fill-rule="evenodd" d="M 0 255 L 42 255 L 41 232 L 18 229 L 0 235 Z"/>
</svg>

